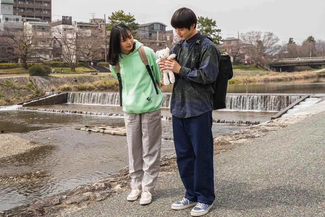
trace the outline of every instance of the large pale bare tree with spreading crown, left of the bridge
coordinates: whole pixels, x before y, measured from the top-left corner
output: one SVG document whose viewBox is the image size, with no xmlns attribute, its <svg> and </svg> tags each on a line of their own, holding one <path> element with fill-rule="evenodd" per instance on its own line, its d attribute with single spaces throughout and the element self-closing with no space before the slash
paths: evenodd
<svg viewBox="0 0 325 217">
<path fill-rule="evenodd" d="M 249 31 L 241 34 L 241 40 L 247 46 L 247 52 L 256 68 L 258 64 L 266 67 L 278 50 L 279 38 L 272 32 Z"/>
</svg>

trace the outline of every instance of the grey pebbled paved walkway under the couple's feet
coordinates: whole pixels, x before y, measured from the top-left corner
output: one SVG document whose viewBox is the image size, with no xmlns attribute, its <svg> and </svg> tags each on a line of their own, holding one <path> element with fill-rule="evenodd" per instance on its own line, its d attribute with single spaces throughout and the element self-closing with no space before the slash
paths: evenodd
<svg viewBox="0 0 325 217">
<path fill-rule="evenodd" d="M 325 101 L 299 111 L 315 115 L 215 156 L 216 199 L 205 216 L 325 216 L 324 111 Z M 67 216 L 190 216 L 170 209 L 184 193 L 176 173 L 158 180 L 149 205 L 125 192 Z"/>
</svg>

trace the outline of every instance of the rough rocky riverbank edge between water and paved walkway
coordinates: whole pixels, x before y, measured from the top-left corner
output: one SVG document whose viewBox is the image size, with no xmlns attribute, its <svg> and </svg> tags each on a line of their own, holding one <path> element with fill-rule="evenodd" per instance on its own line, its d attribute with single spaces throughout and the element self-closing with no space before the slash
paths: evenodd
<svg viewBox="0 0 325 217">
<path fill-rule="evenodd" d="M 245 146 L 256 139 L 265 137 L 282 128 L 292 126 L 292 124 L 305 120 L 311 115 L 322 112 L 325 110 L 324 102 L 314 105 L 313 108 L 315 109 L 310 108 L 310 110 L 314 111 L 313 114 L 300 112 L 266 121 L 259 125 L 230 133 L 227 136 L 214 138 L 214 155 L 216 156 L 234 148 Z M 158 182 L 160 182 L 161 178 L 175 174 L 177 171 L 175 153 L 163 156 Z M 30 213 L 29 216 L 65 216 L 68 213 L 84 209 L 99 201 L 115 197 L 130 190 L 131 178 L 128 173 L 127 166 L 120 169 L 117 173 L 97 182 L 79 185 L 74 189 L 61 191 L 53 196 L 35 199 L 29 203 L 2 211 L 0 212 L 0 216 L 18 217 L 23 216 L 23 213 Z"/>
</svg>

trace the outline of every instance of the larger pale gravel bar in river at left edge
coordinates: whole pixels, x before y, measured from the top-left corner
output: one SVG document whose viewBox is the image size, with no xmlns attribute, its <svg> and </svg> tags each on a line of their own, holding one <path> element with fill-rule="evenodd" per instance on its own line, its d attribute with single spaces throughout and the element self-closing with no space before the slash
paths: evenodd
<svg viewBox="0 0 325 217">
<path fill-rule="evenodd" d="M 38 146 L 32 140 L 15 135 L 0 134 L 0 158 L 21 154 Z"/>
</svg>

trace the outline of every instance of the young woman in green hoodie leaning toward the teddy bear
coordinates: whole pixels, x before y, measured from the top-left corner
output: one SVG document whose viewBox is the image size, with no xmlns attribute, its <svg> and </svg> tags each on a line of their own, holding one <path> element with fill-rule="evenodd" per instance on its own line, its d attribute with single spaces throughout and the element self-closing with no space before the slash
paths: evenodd
<svg viewBox="0 0 325 217">
<path fill-rule="evenodd" d="M 126 25 L 117 24 L 112 28 L 109 46 L 110 71 L 118 79 L 114 66 L 119 66 L 123 87 L 122 104 L 132 178 L 132 191 L 127 200 L 136 200 L 141 194 L 140 204 L 148 204 L 160 169 L 162 92 L 158 89 L 156 93 L 141 60 L 138 49 L 143 44 L 133 39 L 132 31 Z M 143 48 L 153 77 L 160 86 L 162 73 L 156 64 L 158 57 L 151 48 Z"/>
</svg>

